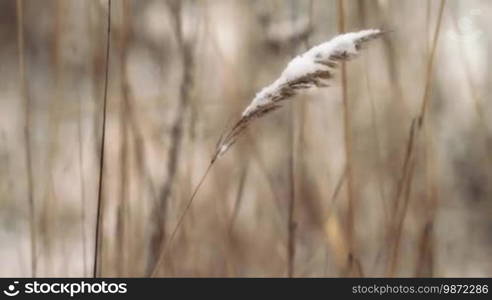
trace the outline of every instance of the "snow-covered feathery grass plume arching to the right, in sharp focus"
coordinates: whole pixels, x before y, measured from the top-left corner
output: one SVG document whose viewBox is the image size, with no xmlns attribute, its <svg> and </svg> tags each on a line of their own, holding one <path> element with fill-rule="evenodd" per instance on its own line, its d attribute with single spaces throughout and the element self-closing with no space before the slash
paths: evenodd
<svg viewBox="0 0 492 300">
<path fill-rule="evenodd" d="M 305 89 L 329 86 L 339 62 L 356 57 L 364 43 L 382 34 L 379 29 L 341 34 L 295 57 L 277 80 L 256 94 L 239 121 L 219 140 L 212 161 L 224 154 L 254 119 L 281 107 L 282 101 Z"/>
</svg>

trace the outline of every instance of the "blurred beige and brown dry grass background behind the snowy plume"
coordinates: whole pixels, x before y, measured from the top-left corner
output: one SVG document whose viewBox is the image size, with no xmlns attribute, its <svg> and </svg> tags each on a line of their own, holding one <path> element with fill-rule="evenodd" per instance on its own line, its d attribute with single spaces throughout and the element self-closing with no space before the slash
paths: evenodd
<svg viewBox="0 0 492 300">
<path fill-rule="evenodd" d="M 492 276 L 491 9 L 113 0 L 100 274 L 148 276 L 168 247 L 159 276 Z M 0 0 L 0 276 L 92 274 L 107 13 Z M 217 162 L 168 245 L 255 92 L 372 27 L 391 33 L 336 85 Z"/>
</svg>

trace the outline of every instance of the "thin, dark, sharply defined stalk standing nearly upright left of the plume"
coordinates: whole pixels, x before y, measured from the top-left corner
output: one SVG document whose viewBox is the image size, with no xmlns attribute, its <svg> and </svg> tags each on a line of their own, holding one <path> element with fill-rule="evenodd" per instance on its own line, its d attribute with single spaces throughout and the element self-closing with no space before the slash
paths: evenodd
<svg viewBox="0 0 492 300">
<path fill-rule="evenodd" d="M 103 98 L 103 120 L 102 120 L 102 135 L 101 149 L 99 152 L 99 186 L 97 191 L 97 213 L 96 213 L 96 230 L 94 237 L 94 267 L 93 277 L 96 278 L 100 274 L 99 260 L 100 250 L 102 249 L 101 231 L 102 231 L 102 210 L 103 210 L 103 184 L 104 184 L 104 148 L 106 143 L 106 117 L 107 117 L 107 102 L 108 102 L 108 78 L 109 78 L 109 51 L 111 46 L 111 0 L 108 0 L 107 14 L 107 35 L 106 35 L 106 66 L 104 78 L 104 98 Z"/>
</svg>

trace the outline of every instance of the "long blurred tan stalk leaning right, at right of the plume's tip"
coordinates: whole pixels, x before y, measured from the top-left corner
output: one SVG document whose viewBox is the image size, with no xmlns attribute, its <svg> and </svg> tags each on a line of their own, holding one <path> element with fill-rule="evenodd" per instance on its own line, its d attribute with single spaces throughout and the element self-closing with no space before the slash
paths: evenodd
<svg viewBox="0 0 492 300">
<path fill-rule="evenodd" d="M 425 76 L 425 87 L 424 87 L 424 94 L 422 97 L 422 104 L 420 108 L 420 113 L 417 117 L 412 122 L 411 128 L 410 128 L 410 133 L 409 133 L 409 138 L 408 138 L 408 143 L 407 143 L 407 152 L 405 155 L 405 162 L 403 164 L 402 168 L 402 175 L 401 179 L 399 181 L 398 187 L 397 187 L 397 193 L 396 193 L 396 198 L 395 198 L 395 203 L 393 207 L 393 216 L 394 216 L 394 221 L 393 221 L 393 227 L 395 228 L 394 231 L 394 237 L 393 237 L 393 243 L 391 245 L 391 254 L 390 258 L 388 260 L 388 269 L 387 269 L 387 276 L 394 276 L 397 267 L 398 267 L 398 258 L 399 258 L 399 248 L 400 248 L 400 243 L 401 243 L 401 232 L 403 230 L 403 221 L 406 216 L 406 211 L 407 211 L 407 205 L 403 205 L 402 212 L 398 213 L 399 210 L 399 202 L 400 202 L 400 197 L 403 193 L 404 190 L 408 190 L 410 188 L 412 178 L 413 178 L 413 172 L 414 172 L 414 164 L 415 162 L 412 162 L 414 160 L 414 152 L 416 148 L 416 144 L 419 142 L 419 136 L 422 131 L 422 126 L 425 121 L 425 115 L 427 111 L 427 106 L 430 98 L 430 92 L 431 92 L 431 79 L 432 79 L 432 73 L 434 70 L 434 57 L 437 49 L 437 44 L 439 41 L 439 33 L 441 29 L 441 24 L 442 24 L 442 17 L 443 17 L 443 12 L 444 8 L 446 5 L 446 0 L 441 0 L 440 5 L 439 5 L 439 14 L 437 17 L 437 24 L 434 29 L 434 36 L 432 39 L 432 46 L 431 50 L 429 53 L 429 59 L 427 61 L 427 68 L 426 68 L 426 76 Z M 415 158 L 416 159 L 416 158 Z M 410 191 L 407 191 L 407 193 L 410 193 Z M 408 201 L 408 200 L 405 200 Z"/>
</svg>

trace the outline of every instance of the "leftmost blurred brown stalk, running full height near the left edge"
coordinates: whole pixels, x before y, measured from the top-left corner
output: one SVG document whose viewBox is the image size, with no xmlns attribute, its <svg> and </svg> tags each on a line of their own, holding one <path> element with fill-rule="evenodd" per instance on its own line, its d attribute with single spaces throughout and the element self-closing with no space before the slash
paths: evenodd
<svg viewBox="0 0 492 300">
<path fill-rule="evenodd" d="M 31 101 L 27 94 L 24 62 L 24 7 L 22 0 L 17 0 L 17 47 L 19 55 L 20 94 L 25 109 L 24 144 L 27 172 L 27 201 L 29 205 L 29 231 L 31 243 L 31 277 L 37 275 L 37 239 L 36 219 L 33 194 L 32 154 L 31 154 Z"/>
</svg>

